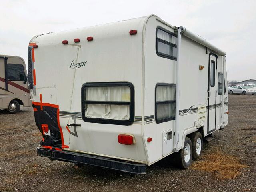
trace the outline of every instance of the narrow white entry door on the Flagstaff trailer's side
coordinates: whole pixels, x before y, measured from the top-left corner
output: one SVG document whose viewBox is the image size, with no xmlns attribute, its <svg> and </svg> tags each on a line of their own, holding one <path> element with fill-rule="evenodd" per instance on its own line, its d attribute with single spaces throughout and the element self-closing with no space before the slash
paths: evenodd
<svg viewBox="0 0 256 192">
<path fill-rule="evenodd" d="M 208 68 L 208 133 L 216 128 L 216 65 L 217 58 L 214 54 L 210 54 Z"/>
</svg>

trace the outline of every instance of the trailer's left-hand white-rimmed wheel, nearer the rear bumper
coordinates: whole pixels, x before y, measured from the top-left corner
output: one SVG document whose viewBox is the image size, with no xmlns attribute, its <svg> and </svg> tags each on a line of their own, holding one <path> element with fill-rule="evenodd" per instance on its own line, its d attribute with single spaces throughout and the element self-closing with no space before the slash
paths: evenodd
<svg viewBox="0 0 256 192">
<path fill-rule="evenodd" d="M 180 168 L 187 169 L 192 163 L 192 142 L 186 137 L 184 147 L 176 153 L 176 162 Z"/>
</svg>

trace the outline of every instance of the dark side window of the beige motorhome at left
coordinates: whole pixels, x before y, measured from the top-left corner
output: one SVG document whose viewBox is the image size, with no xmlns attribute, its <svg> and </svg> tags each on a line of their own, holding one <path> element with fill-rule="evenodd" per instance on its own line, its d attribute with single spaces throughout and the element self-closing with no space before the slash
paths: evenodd
<svg viewBox="0 0 256 192">
<path fill-rule="evenodd" d="M 10 81 L 24 81 L 25 72 L 22 64 L 7 64 L 8 80 Z"/>
</svg>

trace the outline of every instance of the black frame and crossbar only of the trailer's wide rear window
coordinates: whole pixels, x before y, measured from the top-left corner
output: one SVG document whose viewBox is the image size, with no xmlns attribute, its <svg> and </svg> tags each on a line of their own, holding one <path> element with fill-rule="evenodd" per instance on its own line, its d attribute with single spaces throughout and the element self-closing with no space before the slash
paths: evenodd
<svg viewBox="0 0 256 192">
<path fill-rule="evenodd" d="M 130 87 L 130 102 L 127 101 L 86 101 L 84 91 L 88 87 Z M 101 123 L 101 124 L 114 124 L 114 125 L 131 125 L 135 118 L 134 107 L 134 86 L 130 82 L 93 82 L 84 83 L 81 88 L 81 109 L 82 119 L 89 123 Z M 85 100 L 84 100 L 85 98 Z M 117 120 L 117 119 L 102 119 L 102 118 L 88 118 L 85 116 L 85 104 L 106 104 L 106 105 L 129 105 L 130 118 L 129 120 Z"/>
</svg>

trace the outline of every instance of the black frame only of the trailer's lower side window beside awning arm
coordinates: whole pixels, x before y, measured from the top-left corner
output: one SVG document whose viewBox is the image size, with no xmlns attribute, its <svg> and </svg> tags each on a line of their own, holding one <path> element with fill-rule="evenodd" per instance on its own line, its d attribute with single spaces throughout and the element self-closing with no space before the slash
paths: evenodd
<svg viewBox="0 0 256 192">
<path fill-rule="evenodd" d="M 157 124 L 167 122 L 167 121 L 172 121 L 172 120 L 175 119 L 175 115 L 171 116 L 171 117 L 164 118 L 164 119 L 157 119 L 157 108 L 156 108 L 156 106 L 157 106 L 158 103 L 175 103 L 175 108 L 176 108 L 176 98 L 175 98 L 175 100 L 169 100 L 169 101 L 156 101 L 156 89 L 157 89 L 158 86 L 170 86 L 170 87 L 175 87 L 175 89 L 176 89 L 176 84 L 174 84 L 174 83 L 157 83 L 156 84 L 156 87 L 155 87 L 155 121 L 156 121 Z"/>
</svg>

